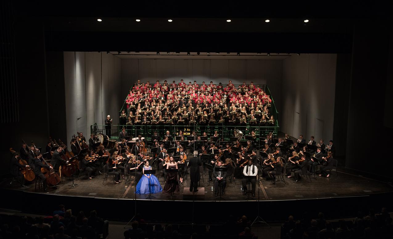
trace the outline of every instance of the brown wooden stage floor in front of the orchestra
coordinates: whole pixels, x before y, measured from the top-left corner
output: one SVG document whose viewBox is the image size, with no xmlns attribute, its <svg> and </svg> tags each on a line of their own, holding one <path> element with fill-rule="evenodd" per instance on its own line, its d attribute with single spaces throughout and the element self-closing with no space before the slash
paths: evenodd
<svg viewBox="0 0 393 239">
<path fill-rule="evenodd" d="M 313 177 L 314 175 L 312 175 Z M 204 182 L 200 181 L 200 187 L 204 188 L 202 200 L 215 201 L 216 197 L 214 191 L 211 191 L 211 185 L 207 186 L 208 175 L 204 175 Z M 112 179 L 103 184 L 103 175 L 96 176 L 92 180 L 81 175 L 80 178 L 75 178 L 74 183 L 77 184 L 75 188 L 69 186 L 72 180 L 62 178 L 62 181 L 55 188 L 48 188 L 48 194 L 57 195 L 71 195 L 71 196 L 84 196 L 84 197 L 98 197 L 98 198 L 111 198 L 111 199 L 135 199 L 135 182 L 132 180 L 125 184 L 122 180 L 120 184 L 113 184 Z M 165 182 L 163 177 L 159 178 L 162 187 Z M 301 182 L 294 182 L 294 178 L 285 178 L 286 184 L 277 180 L 273 185 L 271 181 L 266 181 L 261 178 L 259 182 L 259 200 L 289 200 L 289 199 L 315 199 L 315 198 L 331 198 L 331 197 L 346 197 L 355 195 L 370 195 L 373 193 L 392 192 L 393 186 L 389 182 L 383 182 L 373 178 L 366 178 L 358 175 L 356 172 L 345 168 L 338 168 L 338 177 L 336 172 L 332 172 L 330 178 L 319 177 L 316 179 L 301 180 Z M 10 184 L 9 179 L 4 179 L 0 182 L 1 188 L 17 189 L 24 191 L 35 191 L 34 181 L 27 184 L 28 188 L 20 188 L 17 182 Z M 244 200 L 248 195 L 243 196 L 241 191 L 241 180 L 230 182 L 227 180 L 225 195 L 222 197 L 228 201 Z M 151 200 L 185 200 L 183 199 L 183 190 L 189 190 L 189 180 L 184 180 L 180 184 L 180 192 L 175 193 L 176 197 L 170 199 L 168 194 L 156 193 L 153 194 L 155 198 Z M 136 199 L 146 199 L 148 195 L 136 195 Z M 252 195 L 250 195 L 252 196 Z M 258 188 L 256 190 L 256 197 L 258 199 Z M 149 199 L 148 199 L 149 200 Z"/>
</svg>

